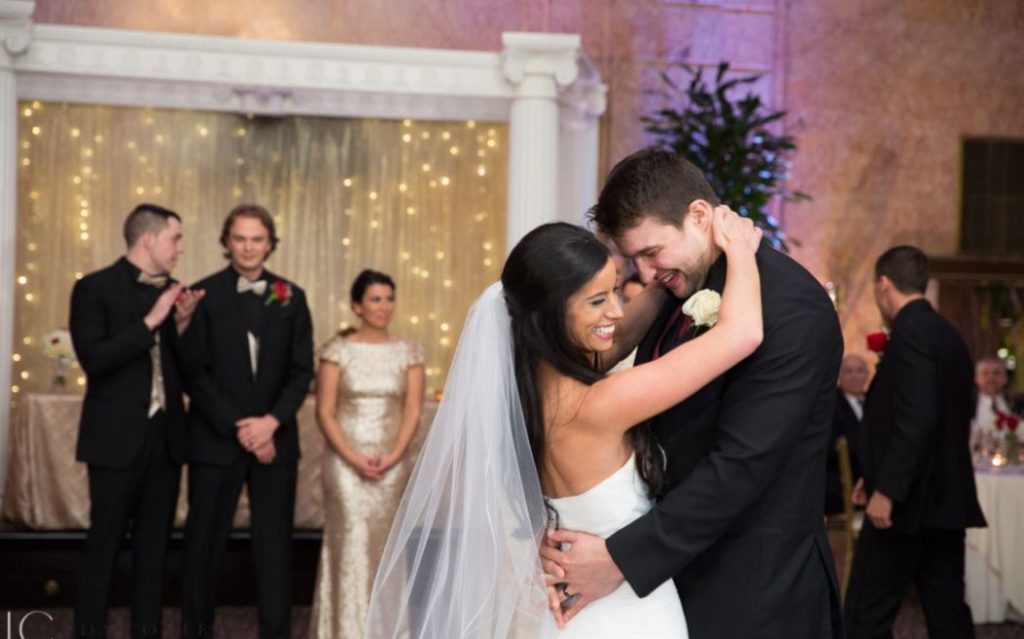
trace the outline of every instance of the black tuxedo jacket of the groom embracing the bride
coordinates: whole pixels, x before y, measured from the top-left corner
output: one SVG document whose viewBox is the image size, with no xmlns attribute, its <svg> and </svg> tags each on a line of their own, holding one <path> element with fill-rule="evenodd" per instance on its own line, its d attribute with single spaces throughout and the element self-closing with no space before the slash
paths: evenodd
<svg viewBox="0 0 1024 639">
<path fill-rule="evenodd" d="M 767 247 L 757 259 L 764 342 L 652 420 L 671 488 L 607 540 L 640 596 L 676 578 L 694 639 L 842 632 L 822 510 L 843 338 L 810 273 Z M 720 258 L 707 288 L 722 290 L 725 267 Z M 679 303 L 666 303 L 637 361 Z"/>
</svg>

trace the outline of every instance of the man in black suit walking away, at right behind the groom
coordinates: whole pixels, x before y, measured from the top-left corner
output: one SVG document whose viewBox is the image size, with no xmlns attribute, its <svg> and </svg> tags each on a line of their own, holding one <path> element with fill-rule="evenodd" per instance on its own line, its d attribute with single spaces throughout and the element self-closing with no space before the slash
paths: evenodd
<svg viewBox="0 0 1024 639">
<path fill-rule="evenodd" d="M 891 329 L 864 406 L 866 502 L 846 599 L 851 639 L 889 637 L 910 584 L 928 636 L 974 636 L 964 601 L 965 528 L 984 526 L 968 438 L 972 366 L 956 330 L 925 299 L 928 258 L 895 247 L 874 263 Z"/>
</svg>

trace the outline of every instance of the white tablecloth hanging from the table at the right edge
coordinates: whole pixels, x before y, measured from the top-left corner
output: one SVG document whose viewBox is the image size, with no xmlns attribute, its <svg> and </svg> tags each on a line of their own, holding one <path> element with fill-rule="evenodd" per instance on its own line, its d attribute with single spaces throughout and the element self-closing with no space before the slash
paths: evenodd
<svg viewBox="0 0 1024 639">
<path fill-rule="evenodd" d="M 967 602 L 975 624 L 1024 615 L 1024 469 L 978 471 L 987 528 L 967 531 Z"/>
</svg>

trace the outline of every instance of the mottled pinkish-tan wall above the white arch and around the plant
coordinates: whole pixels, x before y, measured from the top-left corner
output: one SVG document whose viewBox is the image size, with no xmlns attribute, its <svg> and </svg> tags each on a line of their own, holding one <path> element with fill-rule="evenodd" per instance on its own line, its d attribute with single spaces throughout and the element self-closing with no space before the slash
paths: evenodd
<svg viewBox="0 0 1024 639">
<path fill-rule="evenodd" d="M 657 73 L 728 59 L 791 112 L 783 223 L 839 283 L 854 350 L 877 330 L 874 257 L 955 252 L 966 135 L 1024 138 L 1020 0 L 37 0 L 41 23 L 287 40 L 497 50 L 503 31 L 580 33 L 609 88 L 602 169 L 644 143 Z"/>
</svg>

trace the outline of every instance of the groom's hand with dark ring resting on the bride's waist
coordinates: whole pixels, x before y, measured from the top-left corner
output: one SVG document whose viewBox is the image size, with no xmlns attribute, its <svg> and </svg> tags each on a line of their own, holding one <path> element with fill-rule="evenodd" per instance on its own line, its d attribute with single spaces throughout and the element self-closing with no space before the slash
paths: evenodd
<svg viewBox="0 0 1024 639">
<path fill-rule="evenodd" d="M 546 542 L 541 546 L 544 571 L 555 578 L 553 583 L 565 584 L 562 601 L 579 595 L 571 606 L 563 609 L 565 623 L 588 603 L 623 583 L 623 573 L 600 537 L 574 530 L 549 530 Z M 568 550 L 561 550 L 566 547 L 563 544 L 568 545 Z"/>
</svg>

